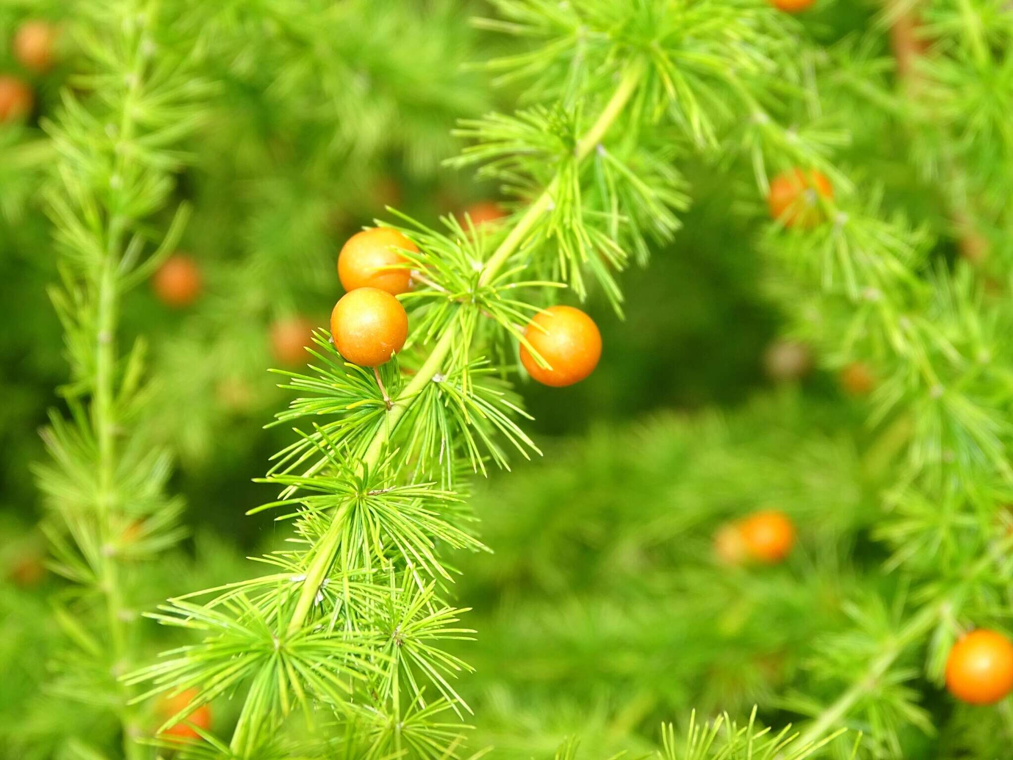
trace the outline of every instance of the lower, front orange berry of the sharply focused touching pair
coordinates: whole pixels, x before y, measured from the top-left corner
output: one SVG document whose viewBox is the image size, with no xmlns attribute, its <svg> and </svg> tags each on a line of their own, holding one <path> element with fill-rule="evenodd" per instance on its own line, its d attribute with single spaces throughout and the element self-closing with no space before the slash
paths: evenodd
<svg viewBox="0 0 1013 760">
<path fill-rule="evenodd" d="M 408 315 L 387 291 L 357 288 L 334 305 L 330 332 L 334 348 L 346 361 L 360 367 L 379 367 L 404 346 Z"/>
</svg>

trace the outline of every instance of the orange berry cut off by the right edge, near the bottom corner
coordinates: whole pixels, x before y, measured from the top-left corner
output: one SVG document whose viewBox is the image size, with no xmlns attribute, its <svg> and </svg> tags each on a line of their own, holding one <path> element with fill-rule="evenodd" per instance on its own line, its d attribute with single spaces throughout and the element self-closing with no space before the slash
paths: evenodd
<svg viewBox="0 0 1013 760">
<path fill-rule="evenodd" d="M 1013 643 L 987 628 L 962 636 L 946 658 L 946 688 L 970 704 L 998 702 L 1013 690 Z"/>
</svg>

